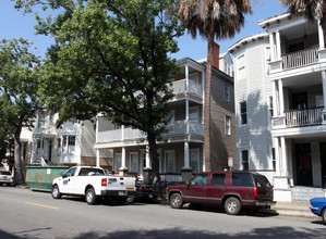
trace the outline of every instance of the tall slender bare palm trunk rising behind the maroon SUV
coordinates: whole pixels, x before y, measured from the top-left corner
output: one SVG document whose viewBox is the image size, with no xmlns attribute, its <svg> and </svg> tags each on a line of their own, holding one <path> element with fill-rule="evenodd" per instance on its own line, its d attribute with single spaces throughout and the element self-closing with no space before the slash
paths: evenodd
<svg viewBox="0 0 326 239">
<path fill-rule="evenodd" d="M 205 76 L 205 105 L 204 105 L 204 143 L 205 143 L 205 171 L 212 171 L 210 159 L 210 81 L 212 63 L 214 54 L 214 21 L 212 21 L 212 32 L 207 36 L 208 52 Z"/>
</svg>

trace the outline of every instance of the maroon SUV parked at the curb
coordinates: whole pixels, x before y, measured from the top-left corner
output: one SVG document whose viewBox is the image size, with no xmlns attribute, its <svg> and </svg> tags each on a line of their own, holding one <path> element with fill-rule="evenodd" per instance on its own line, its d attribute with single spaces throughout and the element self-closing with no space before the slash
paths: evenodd
<svg viewBox="0 0 326 239">
<path fill-rule="evenodd" d="M 169 186 L 167 194 L 173 209 L 184 203 L 216 205 L 232 215 L 239 214 L 243 206 L 257 210 L 275 204 L 268 179 L 250 172 L 200 173 L 188 184 Z"/>
</svg>

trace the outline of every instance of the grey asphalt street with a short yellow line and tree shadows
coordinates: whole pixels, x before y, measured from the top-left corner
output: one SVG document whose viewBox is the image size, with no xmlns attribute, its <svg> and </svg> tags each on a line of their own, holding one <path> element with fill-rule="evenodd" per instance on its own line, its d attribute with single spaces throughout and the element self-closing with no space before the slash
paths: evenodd
<svg viewBox="0 0 326 239">
<path fill-rule="evenodd" d="M 322 221 L 219 210 L 98 203 L 0 187 L 0 238 L 326 238 Z"/>
</svg>

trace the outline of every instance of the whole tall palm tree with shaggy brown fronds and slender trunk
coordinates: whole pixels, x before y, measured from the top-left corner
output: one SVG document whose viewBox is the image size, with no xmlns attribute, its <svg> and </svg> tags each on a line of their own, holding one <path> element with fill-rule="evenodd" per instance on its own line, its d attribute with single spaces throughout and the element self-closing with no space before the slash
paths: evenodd
<svg viewBox="0 0 326 239">
<path fill-rule="evenodd" d="M 193 38 L 197 33 L 207 39 L 205 77 L 204 141 L 205 169 L 210 171 L 210 78 L 214 40 L 231 38 L 244 25 L 244 14 L 252 13 L 250 0 L 180 0 L 179 14 Z"/>
</svg>

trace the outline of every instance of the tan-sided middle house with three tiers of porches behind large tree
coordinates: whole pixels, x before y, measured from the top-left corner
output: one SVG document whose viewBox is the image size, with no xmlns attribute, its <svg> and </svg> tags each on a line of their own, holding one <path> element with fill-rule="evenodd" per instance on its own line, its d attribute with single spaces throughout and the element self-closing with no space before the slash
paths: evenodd
<svg viewBox="0 0 326 239">
<path fill-rule="evenodd" d="M 219 47 L 216 45 L 216 49 Z M 226 61 L 229 54 L 225 55 Z M 213 169 L 228 167 L 228 158 L 236 160 L 236 124 L 233 79 L 218 70 L 217 53 L 213 67 L 210 96 L 210 131 L 204 131 L 205 62 L 185 58 L 178 61 L 180 74 L 170 79 L 174 98 L 169 102 L 171 122 L 169 133 L 158 141 L 159 171 L 186 178 L 191 173 L 205 169 L 204 134 L 210 134 Z M 228 64 L 226 64 L 228 65 Z M 230 71 L 230 74 L 232 73 Z M 95 149 L 113 151 L 114 172 L 134 173 L 138 176 L 150 171 L 147 142 L 143 131 L 117 126 L 101 117 L 97 121 Z M 174 178 L 176 179 L 176 178 Z"/>
</svg>

